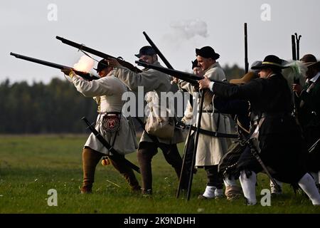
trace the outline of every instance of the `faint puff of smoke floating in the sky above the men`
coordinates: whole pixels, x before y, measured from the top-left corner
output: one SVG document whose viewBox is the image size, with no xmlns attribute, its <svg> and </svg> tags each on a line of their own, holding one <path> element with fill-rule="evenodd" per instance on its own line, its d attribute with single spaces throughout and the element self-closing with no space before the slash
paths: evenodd
<svg viewBox="0 0 320 228">
<path fill-rule="evenodd" d="M 193 19 L 187 21 L 171 22 L 171 28 L 174 28 L 174 35 L 182 39 L 191 39 L 196 35 L 204 38 L 208 37 L 208 26 L 205 21 L 200 19 Z"/>
</svg>

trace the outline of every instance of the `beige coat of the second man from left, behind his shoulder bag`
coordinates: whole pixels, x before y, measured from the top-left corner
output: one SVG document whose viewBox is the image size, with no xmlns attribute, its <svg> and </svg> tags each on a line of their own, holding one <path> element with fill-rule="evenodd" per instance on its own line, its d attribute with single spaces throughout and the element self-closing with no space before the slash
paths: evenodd
<svg viewBox="0 0 320 228">
<path fill-rule="evenodd" d="M 160 63 L 156 61 L 153 63 L 155 65 L 160 66 Z M 154 69 L 144 69 L 142 73 L 135 73 L 130 71 L 128 68 L 124 68 L 121 66 L 114 70 L 114 76 L 119 78 L 130 90 L 137 92 L 139 86 L 143 86 L 144 93 L 146 97 L 149 97 L 147 102 L 147 107 L 152 107 L 154 104 L 154 100 L 159 100 L 161 103 L 161 92 L 169 92 L 171 88 L 171 83 L 169 80 L 169 76 L 165 73 L 161 73 Z M 154 95 L 158 95 L 158 98 L 154 98 Z M 176 144 L 178 142 L 183 142 L 183 135 L 181 130 L 175 130 L 174 138 L 172 139 L 162 139 L 158 138 L 159 142 L 163 142 L 165 144 Z M 140 142 L 154 142 L 149 138 L 146 133 L 142 133 L 142 138 Z"/>
</svg>

